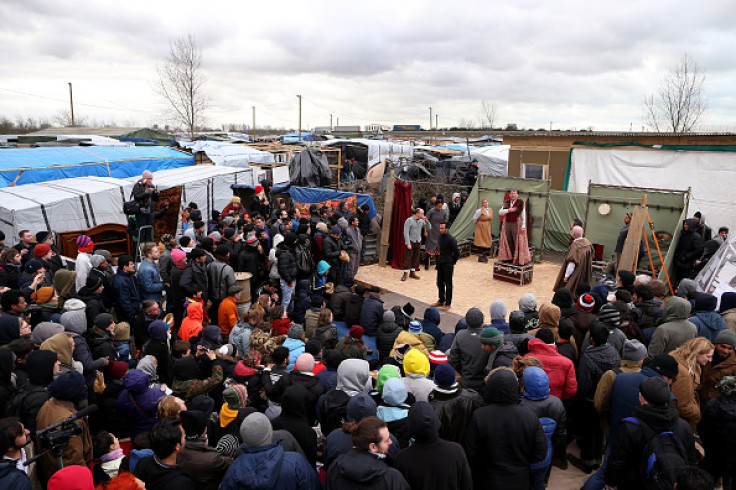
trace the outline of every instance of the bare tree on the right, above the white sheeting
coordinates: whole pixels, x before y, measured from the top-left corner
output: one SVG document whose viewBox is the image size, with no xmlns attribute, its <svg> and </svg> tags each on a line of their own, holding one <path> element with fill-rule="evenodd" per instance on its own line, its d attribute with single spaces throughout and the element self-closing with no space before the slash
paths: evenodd
<svg viewBox="0 0 736 490">
<path fill-rule="evenodd" d="M 705 71 L 687 54 L 644 97 L 644 122 L 655 131 L 687 133 L 698 126 L 708 109 L 703 85 Z"/>
</svg>

